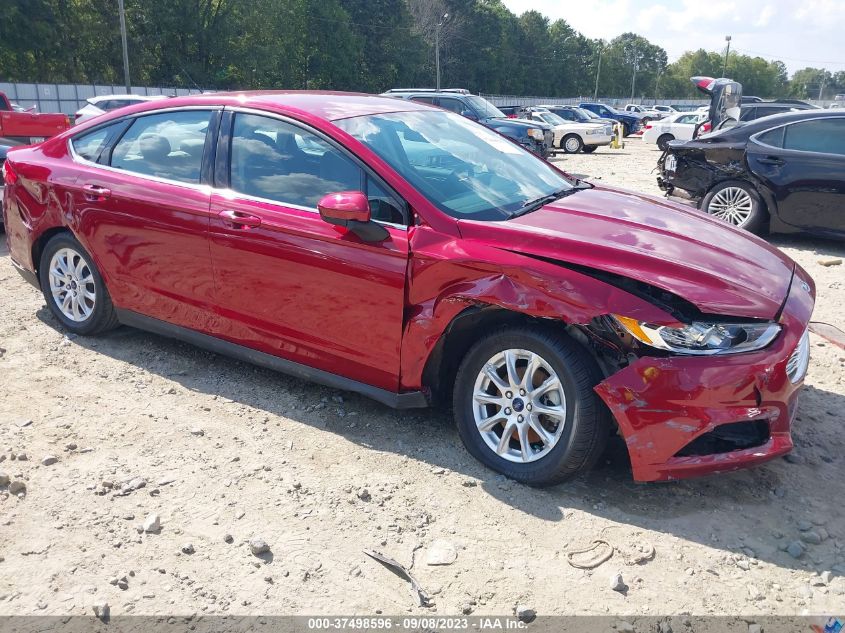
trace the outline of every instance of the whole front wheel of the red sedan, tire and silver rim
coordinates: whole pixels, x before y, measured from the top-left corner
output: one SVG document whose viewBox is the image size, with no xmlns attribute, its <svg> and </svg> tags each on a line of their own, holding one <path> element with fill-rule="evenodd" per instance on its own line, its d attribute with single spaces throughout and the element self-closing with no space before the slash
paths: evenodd
<svg viewBox="0 0 845 633">
<path fill-rule="evenodd" d="M 512 354 L 519 380 L 506 383 L 496 373 L 501 383 L 496 386 L 487 369 L 494 367 L 508 376 L 506 352 Z M 542 364 L 522 385 L 527 392 L 523 394 L 511 385 L 525 380 L 530 355 Z M 552 377 L 557 377 L 558 387 L 530 396 L 529 385 L 536 390 Z M 458 434 L 470 454 L 488 468 L 530 486 L 560 483 L 591 468 L 604 451 L 610 417 L 593 392 L 600 379 L 592 357 L 565 334 L 528 327 L 493 332 L 473 345 L 458 369 L 453 392 Z M 482 396 L 479 401 L 477 393 L 489 398 Z M 508 394 L 512 397 L 507 398 Z M 540 407 L 553 414 L 530 413 Z M 476 416 L 487 420 L 490 428 L 480 430 Z M 503 437 L 508 438 L 507 444 Z"/>
</svg>

